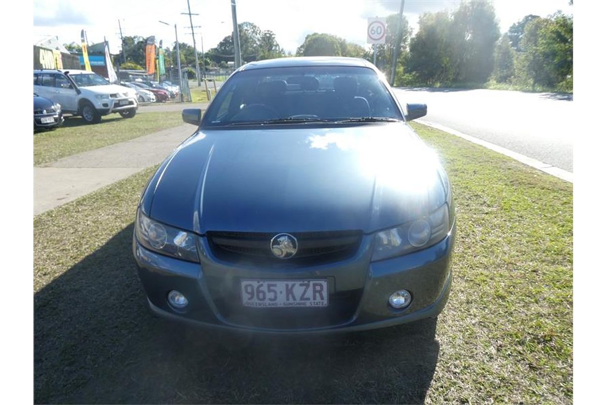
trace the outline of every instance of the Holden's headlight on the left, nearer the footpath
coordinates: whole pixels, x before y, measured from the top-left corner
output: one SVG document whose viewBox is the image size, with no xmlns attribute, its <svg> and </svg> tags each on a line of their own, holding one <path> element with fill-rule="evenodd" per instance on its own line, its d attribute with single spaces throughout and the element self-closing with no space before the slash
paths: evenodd
<svg viewBox="0 0 607 405">
<path fill-rule="evenodd" d="M 135 236 L 149 250 L 190 262 L 200 261 L 194 234 L 149 219 L 139 210 L 135 220 Z"/>
</svg>

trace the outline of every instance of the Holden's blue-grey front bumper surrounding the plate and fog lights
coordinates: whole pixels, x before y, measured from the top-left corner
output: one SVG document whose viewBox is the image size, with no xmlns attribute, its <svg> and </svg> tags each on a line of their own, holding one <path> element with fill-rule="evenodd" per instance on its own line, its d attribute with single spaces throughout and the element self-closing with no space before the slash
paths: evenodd
<svg viewBox="0 0 607 405">
<path fill-rule="evenodd" d="M 227 265 L 212 256 L 205 238 L 200 238 L 201 263 L 185 262 L 146 250 L 133 239 L 133 250 L 138 274 L 148 295 L 151 310 L 159 316 L 193 325 L 265 333 L 329 333 L 354 332 L 404 324 L 439 315 L 449 298 L 452 282 L 451 256 L 455 240 L 455 225 L 449 235 L 432 247 L 405 256 L 370 263 L 372 237 L 365 236 L 359 251 L 343 262 L 277 271 L 276 268 L 240 268 Z M 240 307 L 240 296 L 230 285 L 240 278 L 302 279 L 325 277 L 334 294 L 351 291 L 353 311 L 345 319 L 327 324 L 256 325 L 248 309 Z M 388 305 L 394 291 L 405 288 L 412 293 L 409 307 L 395 310 Z M 189 300 L 186 311 L 172 308 L 166 299 L 169 291 L 183 292 Z M 225 301 L 234 306 L 232 313 Z M 224 304 L 222 304 L 224 302 Z M 329 300 L 331 305 L 331 299 Z M 222 306 L 223 305 L 223 306 Z M 236 308 L 236 310 L 234 310 Z M 266 318 L 273 318 L 279 308 L 254 308 Z M 297 310 L 289 308 L 291 317 Z M 242 310 L 243 316 L 233 312 Z M 314 308 L 316 317 L 322 318 L 325 309 Z M 265 311 L 265 312 L 263 312 Z M 300 312 L 304 313 L 304 312 Z M 328 318 L 328 316 L 327 316 Z M 291 319 L 293 321 L 293 319 Z"/>
</svg>

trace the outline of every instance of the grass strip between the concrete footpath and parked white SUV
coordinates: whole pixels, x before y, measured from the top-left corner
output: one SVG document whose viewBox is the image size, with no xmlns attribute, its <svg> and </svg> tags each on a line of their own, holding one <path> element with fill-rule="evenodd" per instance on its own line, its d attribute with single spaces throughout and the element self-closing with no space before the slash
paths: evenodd
<svg viewBox="0 0 607 405">
<path fill-rule="evenodd" d="M 182 124 L 181 112 L 145 112 L 125 119 L 106 115 L 98 124 L 86 124 L 80 117 L 66 118 L 63 127 L 34 134 L 34 165 L 90 151 Z"/>
</svg>

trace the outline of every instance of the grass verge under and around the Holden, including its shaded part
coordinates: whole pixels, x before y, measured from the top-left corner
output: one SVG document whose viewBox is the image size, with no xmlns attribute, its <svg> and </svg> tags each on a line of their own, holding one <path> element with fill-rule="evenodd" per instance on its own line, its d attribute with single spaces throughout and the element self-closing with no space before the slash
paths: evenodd
<svg viewBox="0 0 607 405">
<path fill-rule="evenodd" d="M 152 169 L 34 219 L 36 403 L 572 403 L 572 185 L 415 125 L 455 192 L 438 321 L 224 335 L 152 318 L 132 221 Z"/>
</svg>

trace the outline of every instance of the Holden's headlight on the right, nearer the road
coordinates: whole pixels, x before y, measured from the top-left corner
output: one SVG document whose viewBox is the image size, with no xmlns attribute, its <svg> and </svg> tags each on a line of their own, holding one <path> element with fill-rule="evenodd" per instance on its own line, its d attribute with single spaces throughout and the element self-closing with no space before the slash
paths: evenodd
<svg viewBox="0 0 607 405">
<path fill-rule="evenodd" d="M 376 233 L 371 260 L 388 259 L 432 246 L 448 232 L 449 208 L 443 204 L 429 216 Z"/>
</svg>

